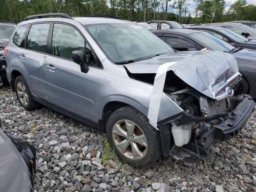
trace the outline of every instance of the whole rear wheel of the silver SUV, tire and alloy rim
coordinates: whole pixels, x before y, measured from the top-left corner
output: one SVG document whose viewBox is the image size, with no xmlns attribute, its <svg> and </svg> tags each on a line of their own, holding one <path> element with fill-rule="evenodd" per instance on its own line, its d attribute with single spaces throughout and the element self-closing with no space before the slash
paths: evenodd
<svg viewBox="0 0 256 192">
<path fill-rule="evenodd" d="M 24 76 L 21 75 L 15 79 L 15 91 L 20 105 L 26 110 L 34 110 L 38 108 L 39 104 L 32 99 L 28 83 Z"/>
</svg>

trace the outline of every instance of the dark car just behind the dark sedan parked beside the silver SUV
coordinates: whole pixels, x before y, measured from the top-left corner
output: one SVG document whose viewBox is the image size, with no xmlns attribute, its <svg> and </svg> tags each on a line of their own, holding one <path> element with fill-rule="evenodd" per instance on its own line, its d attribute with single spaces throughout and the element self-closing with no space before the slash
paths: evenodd
<svg viewBox="0 0 256 192">
<path fill-rule="evenodd" d="M 239 35 L 229 29 L 225 29 L 222 27 L 212 27 L 212 26 L 210 27 L 193 26 L 187 29 L 204 31 L 235 47 L 242 47 L 242 48 L 256 50 L 256 40 L 247 39 L 244 36 Z"/>
</svg>

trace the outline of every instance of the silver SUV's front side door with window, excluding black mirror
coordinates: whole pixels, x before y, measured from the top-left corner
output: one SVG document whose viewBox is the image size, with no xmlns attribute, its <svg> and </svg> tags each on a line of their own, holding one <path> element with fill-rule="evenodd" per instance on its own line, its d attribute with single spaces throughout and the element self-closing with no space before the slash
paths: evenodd
<svg viewBox="0 0 256 192">
<path fill-rule="evenodd" d="M 98 99 L 98 76 L 102 66 L 80 31 L 70 24 L 54 23 L 50 37 L 51 54 L 46 57 L 50 66 L 47 76 L 52 86 L 52 109 L 67 114 L 75 119 L 96 122 Z M 86 52 L 88 73 L 81 72 L 80 65 L 72 60 L 72 51 Z"/>
</svg>

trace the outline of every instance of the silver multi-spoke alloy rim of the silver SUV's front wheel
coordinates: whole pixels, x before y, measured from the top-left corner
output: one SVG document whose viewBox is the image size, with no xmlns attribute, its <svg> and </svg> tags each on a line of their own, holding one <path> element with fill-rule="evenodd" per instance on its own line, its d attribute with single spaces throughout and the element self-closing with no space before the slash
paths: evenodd
<svg viewBox="0 0 256 192">
<path fill-rule="evenodd" d="M 127 158 L 142 159 L 148 151 L 148 142 L 141 128 L 130 120 L 119 120 L 112 129 L 116 148 Z"/>
</svg>

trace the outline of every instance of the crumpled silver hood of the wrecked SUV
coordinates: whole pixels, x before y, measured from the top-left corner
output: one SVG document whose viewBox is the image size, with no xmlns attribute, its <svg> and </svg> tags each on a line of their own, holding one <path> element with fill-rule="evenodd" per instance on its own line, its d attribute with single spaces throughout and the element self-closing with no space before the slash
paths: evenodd
<svg viewBox="0 0 256 192">
<path fill-rule="evenodd" d="M 213 90 L 238 72 L 237 61 L 232 54 L 215 51 L 170 53 L 124 66 L 135 74 L 156 73 L 160 65 L 168 62 L 176 62 L 170 70 L 210 98 L 214 98 Z"/>
</svg>

